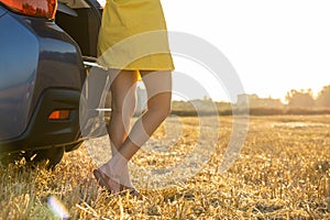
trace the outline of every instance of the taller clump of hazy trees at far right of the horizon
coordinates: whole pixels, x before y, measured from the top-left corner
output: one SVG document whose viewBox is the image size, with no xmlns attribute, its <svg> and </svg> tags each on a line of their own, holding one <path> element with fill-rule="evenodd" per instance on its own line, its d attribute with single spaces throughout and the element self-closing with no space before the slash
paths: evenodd
<svg viewBox="0 0 330 220">
<path fill-rule="evenodd" d="M 330 108 L 330 85 L 324 86 L 317 97 L 314 97 L 311 89 L 293 89 L 287 92 L 285 100 L 290 108 Z"/>
</svg>

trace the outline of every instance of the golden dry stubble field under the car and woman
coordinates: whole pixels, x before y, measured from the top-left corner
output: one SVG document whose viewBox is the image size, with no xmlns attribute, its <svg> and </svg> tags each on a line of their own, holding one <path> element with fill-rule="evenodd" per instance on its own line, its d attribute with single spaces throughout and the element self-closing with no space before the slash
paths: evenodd
<svg viewBox="0 0 330 220">
<path fill-rule="evenodd" d="M 189 151 L 198 119 L 180 120 L 177 153 L 163 152 L 167 158 L 144 151 L 135 166 L 166 166 Z M 55 170 L 23 162 L 0 169 L 0 218 L 56 219 L 47 206 L 54 196 L 69 219 L 330 219 L 330 116 L 251 117 L 239 158 L 220 175 L 231 121 L 220 117 L 217 148 L 196 176 L 164 188 L 142 187 L 136 178 L 143 199 L 98 187 L 85 147 L 66 154 Z M 161 128 L 154 140 L 163 135 Z"/>
</svg>

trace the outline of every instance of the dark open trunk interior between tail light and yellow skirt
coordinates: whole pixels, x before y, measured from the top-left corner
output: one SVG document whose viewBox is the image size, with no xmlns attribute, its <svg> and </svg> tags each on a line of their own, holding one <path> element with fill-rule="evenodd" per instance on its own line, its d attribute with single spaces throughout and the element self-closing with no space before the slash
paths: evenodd
<svg viewBox="0 0 330 220">
<path fill-rule="evenodd" d="M 97 0 L 58 0 L 55 22 L 77 42 L 84 56 L 96 57 L 101 13 Z"/>
</svg>

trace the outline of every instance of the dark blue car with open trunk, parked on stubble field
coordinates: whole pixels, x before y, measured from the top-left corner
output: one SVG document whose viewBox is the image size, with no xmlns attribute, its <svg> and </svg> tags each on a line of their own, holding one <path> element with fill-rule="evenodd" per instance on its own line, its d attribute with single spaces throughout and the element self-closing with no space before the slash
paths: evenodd
<svg viewBox="0 0 330 220">
<path fill-rule="evenodd" d="M 0 0 L 2 165 L 53 167 L 81 144 L 84 57 L 96 56 L 100 21 L 96 0 Z"/>
</svg>

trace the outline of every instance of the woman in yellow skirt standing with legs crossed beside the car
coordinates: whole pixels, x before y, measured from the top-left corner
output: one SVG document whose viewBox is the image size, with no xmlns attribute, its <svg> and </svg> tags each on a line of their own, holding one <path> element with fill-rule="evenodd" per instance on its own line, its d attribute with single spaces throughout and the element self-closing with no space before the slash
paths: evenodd
<svg viewBox="0 0 330 220">
<path fill-rule="evenodd" d="M 98 47 L 99 63 L 110 69 L 112 157 L 94 175 L 112 194 L 138 196 L 128 162 L 170 111 L 174 65 L 160 0 L 107 0 Z M 139 78 L 147 91 L 147 110 L 130 130 Z"/>
</svg>

